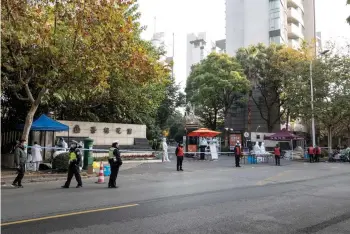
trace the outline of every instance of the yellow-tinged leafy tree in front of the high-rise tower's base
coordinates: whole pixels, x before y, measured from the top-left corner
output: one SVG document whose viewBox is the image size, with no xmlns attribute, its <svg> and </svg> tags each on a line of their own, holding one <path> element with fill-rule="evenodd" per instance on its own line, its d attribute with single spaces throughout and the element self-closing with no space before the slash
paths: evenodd
<svg viewBox="0 0 350 234">
<path fill-rule="evenodd" d="M 305 55 L 283 45 L 258 44 L 239 49 L 236 57 L 252 82 L 250 98 L 272 132 L 286 112 L 296 111 L 300 97 L 295 91 L 300 89 Z"/>
</svg>

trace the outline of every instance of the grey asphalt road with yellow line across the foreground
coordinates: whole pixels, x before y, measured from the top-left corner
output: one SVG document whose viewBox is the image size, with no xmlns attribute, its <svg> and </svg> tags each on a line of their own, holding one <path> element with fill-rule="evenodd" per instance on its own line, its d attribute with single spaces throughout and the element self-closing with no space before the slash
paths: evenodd
<svg viewBox="0 0 350 234">
<path fill-rule="evenodd" d="M 116 190 L 2 188 L 2 233 L 349 233 L 350 165 L 144 164 Z"/>
</svg>

